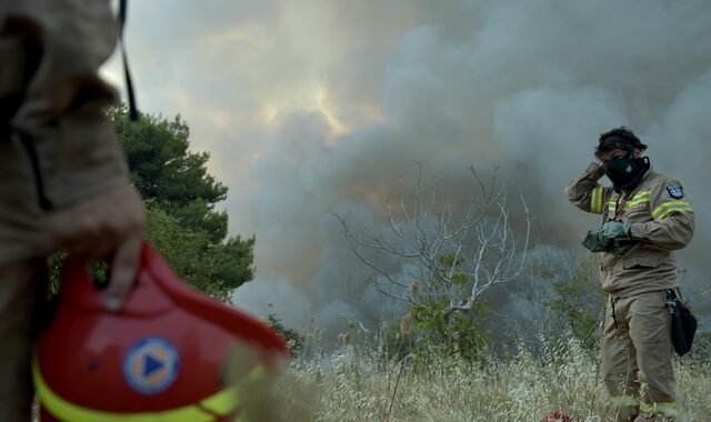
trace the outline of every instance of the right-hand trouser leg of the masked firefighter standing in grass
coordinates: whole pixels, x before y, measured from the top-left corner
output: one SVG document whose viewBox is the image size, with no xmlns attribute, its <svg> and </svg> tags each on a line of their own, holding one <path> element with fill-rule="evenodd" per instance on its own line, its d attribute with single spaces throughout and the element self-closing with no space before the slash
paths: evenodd
<svg viewBox="0 0 711 422">
<path fill-rule="evenodd" d="M 673 416 L 674 372 L 672 368 L 671 315 L 664 307 L 665 292 L 642 293 L 631 303 L 630 336 L 640 368 L 640 401 L 645 415 Z M 642 406 L 640 406 L 642 408 Z"/>
</svg>

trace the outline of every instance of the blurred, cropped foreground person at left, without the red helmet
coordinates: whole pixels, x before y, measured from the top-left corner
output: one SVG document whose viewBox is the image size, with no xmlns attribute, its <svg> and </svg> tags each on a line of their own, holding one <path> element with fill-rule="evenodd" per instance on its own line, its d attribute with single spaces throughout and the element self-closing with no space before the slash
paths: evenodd
<svg viewBox="0 0 711 422">
<path fill-rule="evenodd" d="M 30 421 L 30 361 L 59 249 L 111 263 L 106 310 L 121 309 L 143 209 L 98 77 L 117 41 L 106 0 L 0 2 L 0 419 Z"/>
</svg>

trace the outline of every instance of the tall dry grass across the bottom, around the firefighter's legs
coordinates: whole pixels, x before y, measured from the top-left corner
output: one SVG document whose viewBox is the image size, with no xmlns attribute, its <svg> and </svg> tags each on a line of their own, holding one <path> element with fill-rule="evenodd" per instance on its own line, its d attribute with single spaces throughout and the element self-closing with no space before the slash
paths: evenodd
<svg viewBox="0 0 711 422">
<path fill-rule="evenodd" d="M 711 421 L 711 364 L 678 362 L 675 369 L 678 421 Z M 612 415 L 597 359 L 575 342 L 540 358 L 524 351 L 477 365 L 441 358 L 420 372 L 349 349 L 330 361 L 294 361 L 280 390 L 284 418 L 298 420 L 540 421 L 553 410 L 573 421 Z"/>
</svg>

